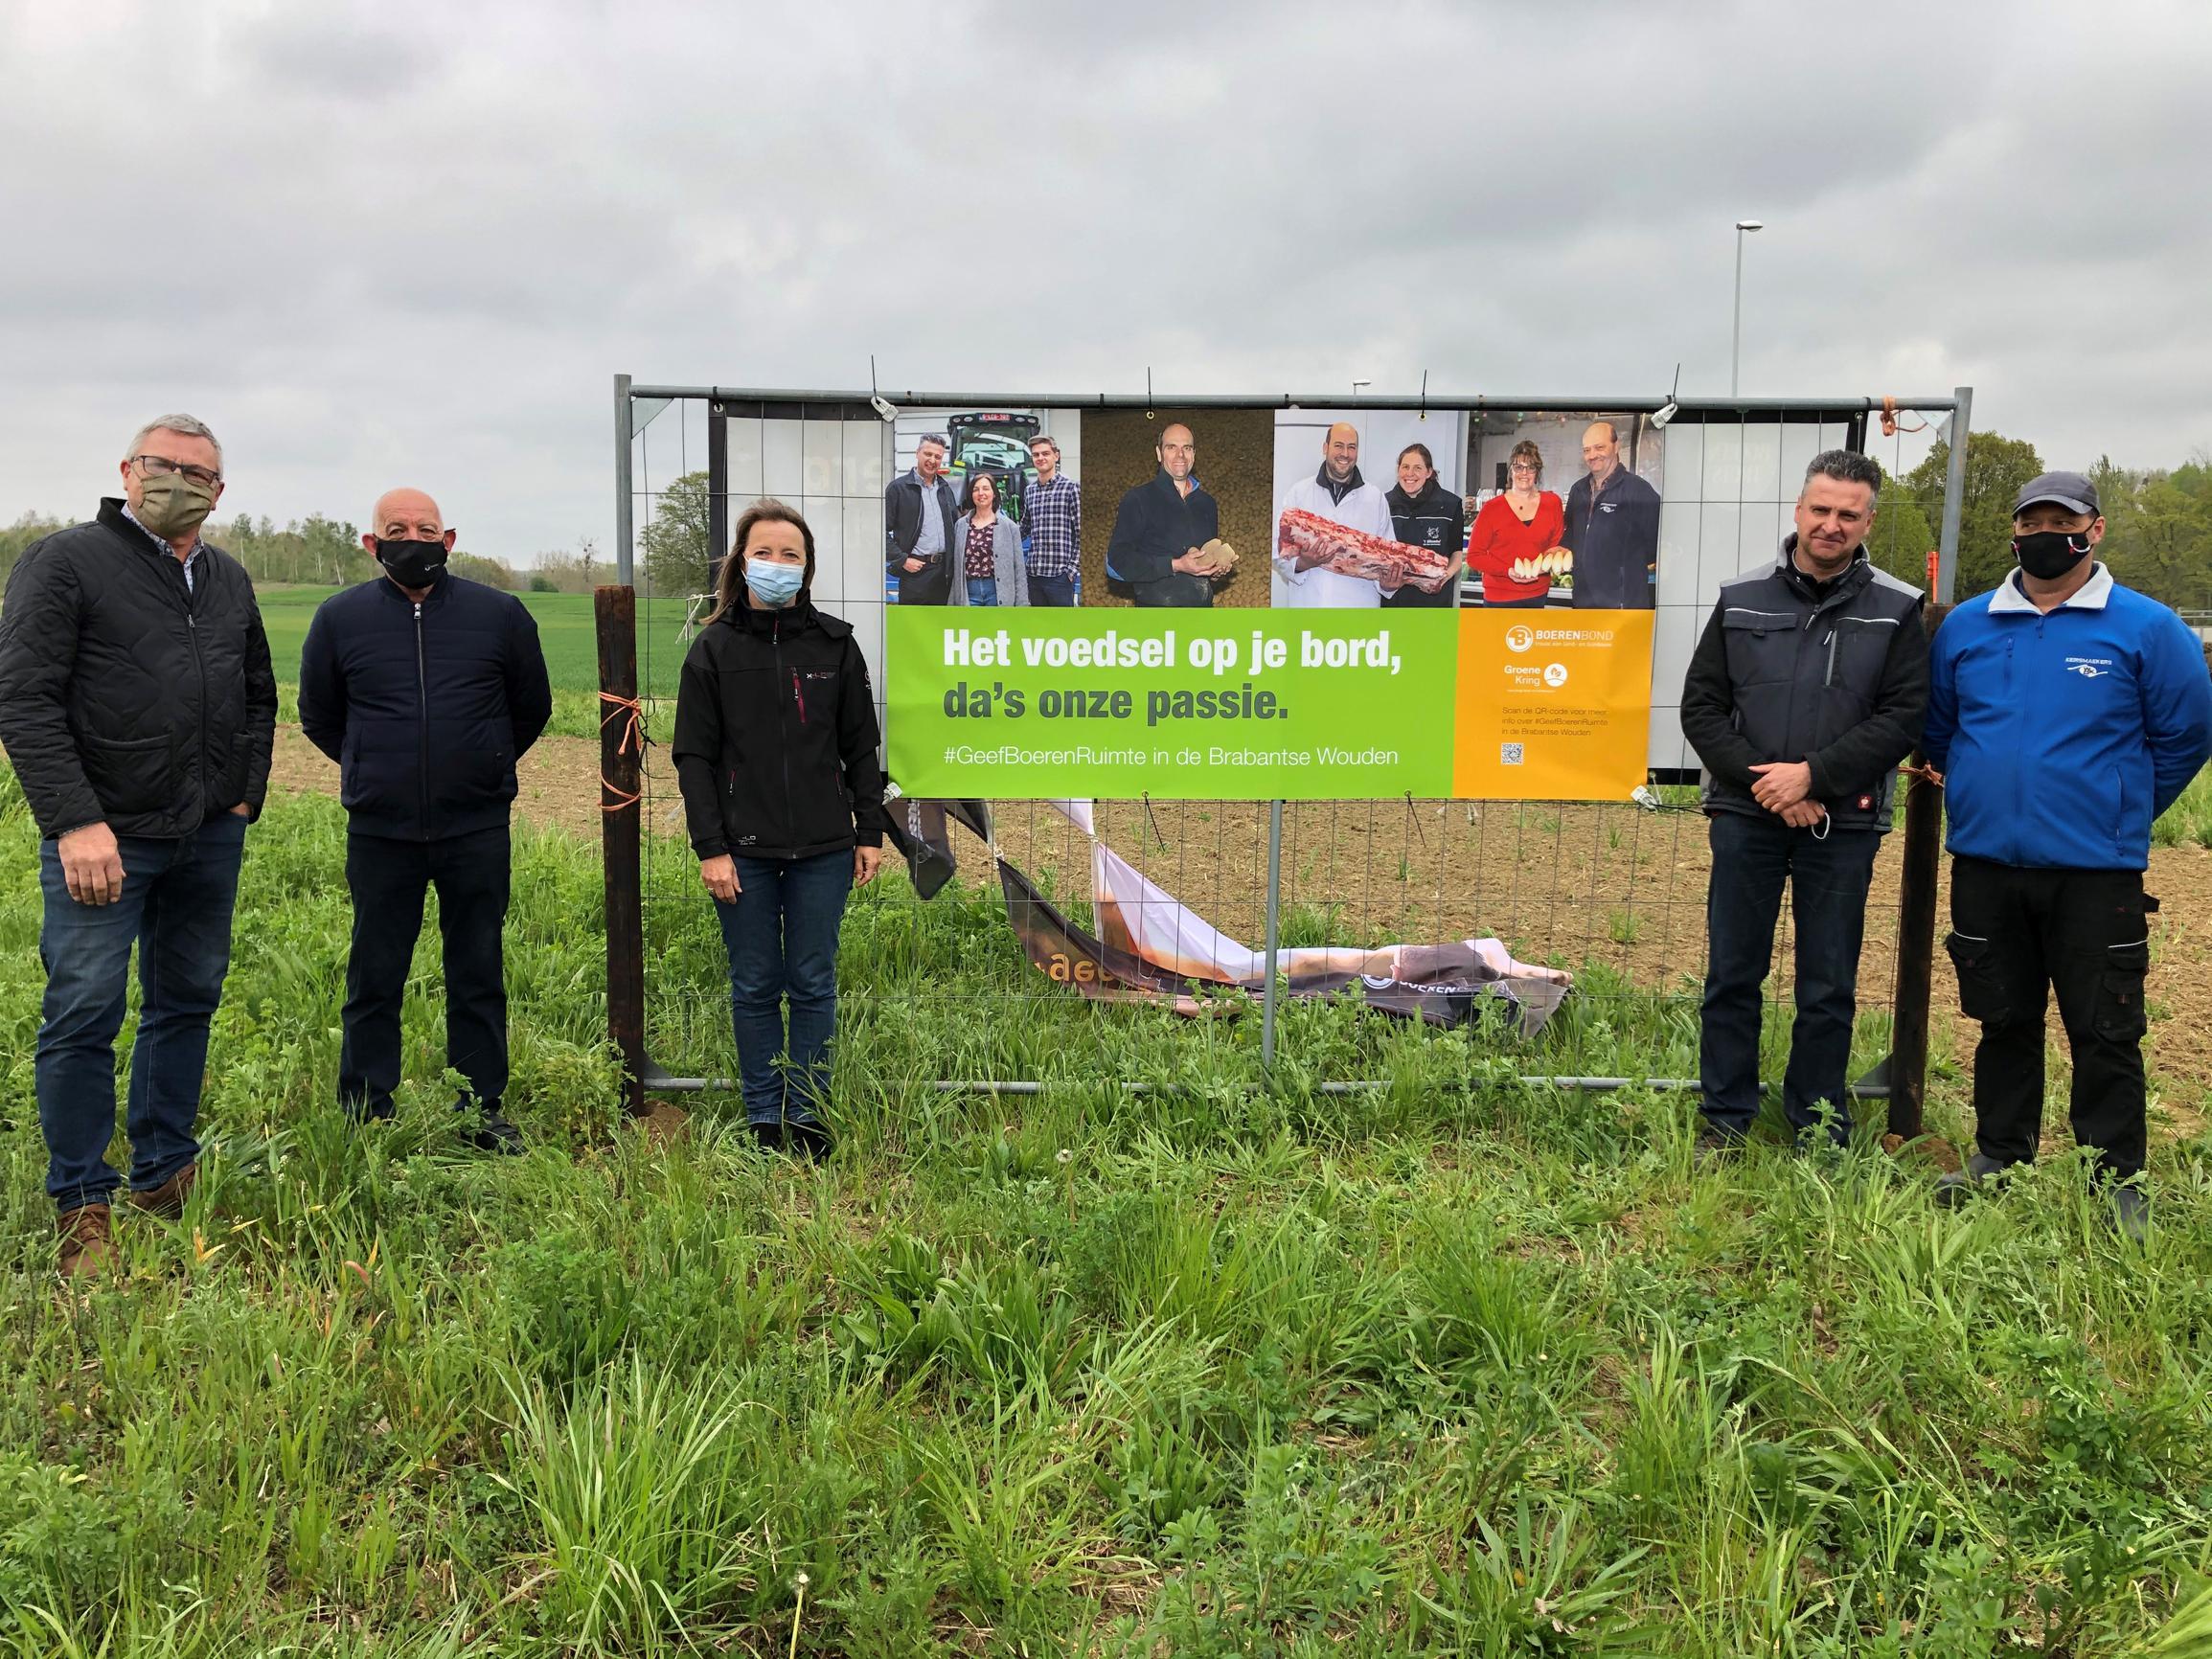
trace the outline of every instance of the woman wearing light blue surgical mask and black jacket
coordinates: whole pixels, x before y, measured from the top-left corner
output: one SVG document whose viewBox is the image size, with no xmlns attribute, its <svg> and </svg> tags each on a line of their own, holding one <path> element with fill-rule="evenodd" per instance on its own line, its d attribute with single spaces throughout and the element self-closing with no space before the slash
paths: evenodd
<svg viewBox="0 0 2212 1659">
<path fill-rule="evenodd" d="M 730 951 L 745 1119 L 772 1150 L 823 1157 L 836 936 L 883 863 L 885 816 L 867 664 L 812 586 L 807 522 L 748 507 L 684 659 L 670 752 Z"/>
</svg>

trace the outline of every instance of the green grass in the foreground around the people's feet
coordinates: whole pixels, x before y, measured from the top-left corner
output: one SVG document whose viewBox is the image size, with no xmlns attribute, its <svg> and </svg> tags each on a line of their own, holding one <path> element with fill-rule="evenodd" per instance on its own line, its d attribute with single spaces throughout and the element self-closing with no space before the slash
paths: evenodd
<svg viewBox="0 0 2212 1659">
<path fill-rule="evenodd" d="M 659 1144 L 611 1106 L 595 849 L 544 834 L 509 949 L 535 1150 L 484 1161 L 427 956 L 400 1119 L 327 1104 L 341 854 L 325 799 L 254 830 L 201 1194 L 119 1217 L 128 1274 L 71 1298 L 0 772 L 0 1650 L 2212 1639 L 2212 1146 L 2159 1150 L 2148 1248 L 2066 1166 L 1964 1214 L 1865 1137 L 1692 1170 L 1683 1099 L 1511 1082 L 1679 1071 L 1679 1011 L 1601 998 L 1535 1055 L 1292 1006 L 1290 1053 L 1389 1088 L 1256 1088 L 1250 1020 L 980 1018 L 1033 989 L 1004 920 L 896 878 L 845 931 L 838 1155 L 765 1159 L 721 1099 Z M 672 1040 L 719 947 L 701 905 L 650 927 L 655 984 L 695 987 Z M 929 1086 L 1075 1044 L 1044 1095 Z"/>
</svg>

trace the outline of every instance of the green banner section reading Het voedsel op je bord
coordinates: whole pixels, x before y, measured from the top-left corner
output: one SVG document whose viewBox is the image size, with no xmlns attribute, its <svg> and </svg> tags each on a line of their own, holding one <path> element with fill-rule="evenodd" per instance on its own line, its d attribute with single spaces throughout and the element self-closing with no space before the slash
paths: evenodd
<svg viewBox="0 0 2212 1659">
<path fill-rule="evenodd" d="M 887 617 L 885 737 L 914 796 L 1451 794 L 1449 611 Z"/>
</svg>

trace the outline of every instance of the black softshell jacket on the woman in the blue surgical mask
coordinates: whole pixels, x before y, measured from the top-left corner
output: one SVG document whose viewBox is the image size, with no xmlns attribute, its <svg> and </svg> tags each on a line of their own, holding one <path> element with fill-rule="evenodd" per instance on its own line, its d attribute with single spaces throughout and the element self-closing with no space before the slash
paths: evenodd
<svg viewBox="0 0 2212 1659">
<path fill-rule="evenodd" d="M 883 845 L 876 699 L 852 624 L 805 597 L 699 630 L 670 752 L 699 858 Z"/>
</svg>

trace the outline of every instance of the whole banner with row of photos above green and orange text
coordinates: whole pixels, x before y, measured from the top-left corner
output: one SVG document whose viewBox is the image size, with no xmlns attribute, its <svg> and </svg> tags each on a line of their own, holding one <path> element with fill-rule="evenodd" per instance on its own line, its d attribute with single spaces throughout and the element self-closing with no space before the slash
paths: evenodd
<svg viewBox="0 0 2212 1659">
<path fill-rule="evenodd" d="M 1626 801 L 1646 779 L 1648 418 L 958 405 L 898 411 L 894 449 L 885 703 L 914 796 Z"/>
</svg>

